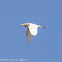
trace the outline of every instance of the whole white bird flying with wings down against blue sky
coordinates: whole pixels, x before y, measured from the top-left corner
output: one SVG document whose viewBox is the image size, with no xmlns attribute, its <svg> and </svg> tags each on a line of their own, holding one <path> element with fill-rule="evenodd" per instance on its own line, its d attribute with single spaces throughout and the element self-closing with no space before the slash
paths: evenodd
<svg viewBox="0 0 62 62">
<path fill-rule="evenodd" d="M 41 26 L 33 24 L 33 23 L 24 23 L 24 24 L 21 24 L 21 25 L 28 28 L 26 30 L 26 36 L 27 36 L 27 40 L 29 42 L 32 41 L 33 36 L 37 35 L 38 28 L 45 28 L 45 27 L 41 27 Z"/>
</svg>

